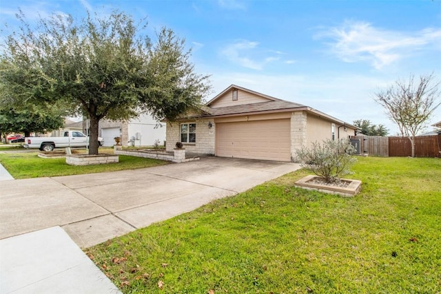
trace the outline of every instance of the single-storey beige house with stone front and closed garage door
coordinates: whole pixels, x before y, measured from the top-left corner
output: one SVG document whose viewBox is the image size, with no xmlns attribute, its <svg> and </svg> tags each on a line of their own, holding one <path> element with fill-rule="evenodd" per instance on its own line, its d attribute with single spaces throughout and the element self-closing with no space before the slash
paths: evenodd
<svg viewBox="0 0 441 294">
<path fill-rule="evenodd" d="M 167 151 L 295 161 L 296 149 L 355 135 L 357 127 L 311 107 L 231 85 L 175 123 L 167 122 Z"/>
</svg>

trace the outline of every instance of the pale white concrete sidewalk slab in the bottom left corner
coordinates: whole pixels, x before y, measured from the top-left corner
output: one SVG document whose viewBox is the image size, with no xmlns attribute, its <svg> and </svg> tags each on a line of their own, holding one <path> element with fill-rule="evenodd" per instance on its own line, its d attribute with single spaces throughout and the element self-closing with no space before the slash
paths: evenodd
<svg viewBox="0 0 441 294">
<path fill-rule="evenodd" d="M 121 293 L 60 227 L 0 240 L 0 293 Z"/>
</svg>

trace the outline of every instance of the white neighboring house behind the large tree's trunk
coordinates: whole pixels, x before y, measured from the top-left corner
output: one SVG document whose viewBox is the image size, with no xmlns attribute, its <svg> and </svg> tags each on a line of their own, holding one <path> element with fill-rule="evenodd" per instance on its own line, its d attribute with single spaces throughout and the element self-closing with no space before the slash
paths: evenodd
<svg viewBox="0 0 441 294">
<path fill-rule="evenodd" d="M 165 141 L 165 123 L 158 123 L 152 116 L 141 114 L 139 118 L 122 120 L 101 120 L 98 136 L 104 140 L 103 146 L 115 145 L 115 137 L 121 138 L 123 146 L 152 146 Z"/>
</svg>

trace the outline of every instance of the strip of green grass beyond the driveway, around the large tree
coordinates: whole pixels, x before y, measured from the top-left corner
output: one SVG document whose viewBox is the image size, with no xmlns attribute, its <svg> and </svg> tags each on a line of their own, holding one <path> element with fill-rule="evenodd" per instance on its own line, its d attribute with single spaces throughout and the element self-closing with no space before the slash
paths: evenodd
<svg viewBox="0 0 441 294">
<path fill-rule="evenodd" d="M 85 149 L 82 152 L 85 152 Z M 100 148 L 100 153 L 103 152 L 113 153 L 113 149 Z M 39 158 L 37 154 L 38 152 L 0 154 L 0 162 L 15 179 L 93 174 L 167 164 L 163 160 L 120 155 L 119 163 L 73 166 L 66 164 L 65 158 Z"/>
</svg>

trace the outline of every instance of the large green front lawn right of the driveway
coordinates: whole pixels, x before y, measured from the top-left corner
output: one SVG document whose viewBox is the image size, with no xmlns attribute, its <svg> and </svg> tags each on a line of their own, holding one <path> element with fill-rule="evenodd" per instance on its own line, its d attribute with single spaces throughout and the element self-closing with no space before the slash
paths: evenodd
<svg viewBox="0 0 441 294">
<path fill-rule="evenodd" d="M 353 171 L 354 198 L 301 170 L 85 251 L 123 293 L 440 293 L 441 160 Z"/>
</svg>

